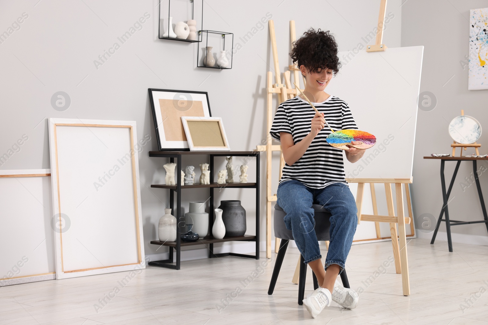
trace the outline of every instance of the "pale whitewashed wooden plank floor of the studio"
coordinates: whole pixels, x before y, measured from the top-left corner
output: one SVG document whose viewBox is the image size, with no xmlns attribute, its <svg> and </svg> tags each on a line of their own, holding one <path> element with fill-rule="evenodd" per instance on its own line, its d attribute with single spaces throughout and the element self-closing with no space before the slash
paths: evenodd
<svg viewBox="0 0 488 325">
<path fill-rule="evenodd" d="M 274 253 L 272 261 L 201 259 L 182 262 L 179 271 L 148 267 L 133 277 L 120 272 L 1 287 L 0 324 L 488 324 L 488 247 L 454 243 L 449 253 L 442 240 L 407 242 L 410 296 L 402 296 L 393 263 L 382 268 L 391 242 L 354 245 L 346 268 L 351 287 L 364 289 L 358 307 L 332 303 L 316 319 L 297 304 L 291 278 L 298 250 L 290 248 L 271 296 Z M 311 280 L 309 270 L 305 294 Z"/>
</svg>

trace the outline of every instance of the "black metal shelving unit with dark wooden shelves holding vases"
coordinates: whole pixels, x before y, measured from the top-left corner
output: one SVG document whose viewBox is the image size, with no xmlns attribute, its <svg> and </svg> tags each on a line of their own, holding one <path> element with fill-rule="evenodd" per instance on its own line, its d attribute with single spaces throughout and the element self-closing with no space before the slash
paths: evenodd
<svg viewBox="0 0 488 325">
<path fill-rule="evenodd" d="M 177 159 L 176 162 L 176 175 L 177 185 L 159 185 L 154 184 L 151 185 L 152 188 L 160 188 L 160 189 L 168 189 L 169 192 L 169 207 L 172 210 L 173 215 L 177 218 L 177 227 L 176 227 L 176 242 L 161 242 L 159 240 L 151 241 L 151 244 L 154 245 L 162 245 L 169 247 L 169 258 L 167 260 L 160 260 L 160 261 L 151 261 L 148 265 L 162 267 L 162 268 L 172 268 L 172 269 L 180 269 L 181 264 L 181 248 L 184 246 L 193 246 L 193 245 L 205 245 L 208 248 L 208 257 L 220 257 L 220 256 L 238 256 L 238 257 L 247 257 L 259 260 L 259 182 L 254 183 L 225 183 L 225 184 L 217 184 L 212 182 L 210 184 L 194 184 L 194 185 L 183 185 L 182 186 L 182 179 L 181 179 L 181 169 L 182 169 L 182 157 L 185 154 L 206 154 L 210 156 L 209 162 L 209 170 L 210 170 L 210 180 L 214 179 L 214 157 L 216 156 L 253 156 L 256 157 L 256 179 L 259 177 L 259 159 L 260 159 L 260 152 L 259 151 L 150 151 L 150 157 L 164 157 L 169 158 L 170 163 L 174 163 L 174 159 Z M 210 202 L 209 202 L 209 213 L 208 213 L 208 223 L 210 228 L 210 235 L 199 239 L 196 242 L 182 242 L 180 235 L 184 233 L 184 217 L 181 216 L 181 193 L 182 189 L 196 189 L 196 188 L 208 188 L 210 194 Z M 212 237 L 212 226 L 213 226 L 213 217 L 214 217 L 214 189 L 215 188 L 248 188 L 248 189 L 256 189 L 256 235 L 244 235 L 244 236 L 237 236 L 237 237 L 224 237 L 223 239 L 216 239 Z M 174 195 L 176 193 L 176 214 L 174 213 Z M 182 221 L 183 219 L 183 221 Z M 215 243 L 223 243 L 229 241 L 252 241 L 256 242 L 256 253 L 255 255 L 247 255 L 247 254 L 238 254 L 238 253 L 220 253 L 215 254 L 213 252 L 213 244 Z M 208 246 L 207 246 L 208 245 Z M 174 263 L 174 256 L 173 256 L 173 249 L 176 250 L 176 265 Z"/>
</svg>

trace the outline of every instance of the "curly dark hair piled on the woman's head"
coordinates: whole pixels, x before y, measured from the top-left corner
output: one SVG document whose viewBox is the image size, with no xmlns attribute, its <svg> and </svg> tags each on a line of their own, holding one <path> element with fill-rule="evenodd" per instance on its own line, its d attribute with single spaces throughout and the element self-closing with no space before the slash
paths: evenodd
<svg viewBox="0 0 488 325">
<path fill-rule="evenodd" d="M 310 28 L 293 45 L 290 56 L 298 67 L 303 64 L 310 73 L 331 69 L 334 76 L 339 72 L 341 62 L 337 56 L 337 43 L 330 31 Z"/>
</svg>

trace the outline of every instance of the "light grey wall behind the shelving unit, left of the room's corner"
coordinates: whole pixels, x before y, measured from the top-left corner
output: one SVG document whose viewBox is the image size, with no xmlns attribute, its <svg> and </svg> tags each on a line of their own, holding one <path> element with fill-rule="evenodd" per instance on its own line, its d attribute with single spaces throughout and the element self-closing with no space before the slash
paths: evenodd
<svg viewBox="0 0 488 325">
<path fill-rule="evenodd" d="M 163 1 L 163 5 L 166 3 Z M 258 29 L 245 44 L 240 38 L 269 13 L 275 21 L 283 72 L 289 64 L 290 19 L 296 21 L 297 36 L 310 26 L 330 29 L 337 37 L 339 50 L 352 50 L 359 43 L 366 45 L 363 37 L 377 25 L 379 3 L 379 0 L 205 1 L 203 28 L 232 32 L 234 46 L 237 48 L 237 43 L 242 46 L 234 55 L 233 69 L 219 71 L 196 68 L 197 45 L 158 39 L 156 0 L 0 1 L 0 33 L 8 31 L 22 13 L 28 15 L 20 19 L 20 29 L 14 24 L 18 30 L 12 29 L 12 34 L 0 44 L 0 155 L 12 154 L 6 162 L 2 161 L 0 169 L 50 167 L 46 117 L 137 121 L 138 138 L 151 136 L 139 157 L 145 251 L 155 253 L 158 247 L 148 243 L 157 239 L 156 225 L 168 205 L 169 195 L 166 190 L 150 188 L 151 184 L 164 181 L 162 165 L 166 161 L 148 157 L 149 150 L 157 149 L 157 141 L 147 88 L 207 91 L 212 115 L 223 118 L 231 150 L 252 150 L 266 138 L 265 74 L 273 64 L 267 26 Z M 195 0 L 196 7 L 200 4 Z M 400 4 L 400 0 L 388 1 L 386 12 L 395 16 L 386 25 L 384 43 L 389 47 L 400 46 Z M 145 13 L 150 18 L 142 24 L 142 29 L 121 44 L 117 38 Z M 119 42 L 120 49 L 97 69 L 94 60 L 115 42 Z M 369 42 L 373 43 L 374 40 Z M 66 92 L 71 98 L 70 107 L 63 112 L 54 110 L 50 103 L 51 96 L 58 91 Z M 23 134 L 28 140 L 20 147 L 14 146 L 17 152 L 9 151 Z M 203 158 L 188 157 L 183 165 L 197 166 Z M 234 163 L 240 164 L 239 159 L 234 159 Z M 274 166 L 277 178 L 277 156 Z M 262 192 L 264 167 L 265 157 L 261 166 Z M 250 181 L 253 172 L 251 162 Z M 273 191 L 277 182 L 275 179 Z M 438 189 L 435 190 L 437 193 Z M 217 194 L 215 205 L 221 199 L 241 199 L 250 216 L 248 233 L 253 234 L 253 195 L 253 190 L 227 189 Z M 207 198 L 205 189 L 185 191 L 183 206 L 187 210 L 189 201 Z M 262 216 L 264 205 L 262 199 Z M 263 241 L 264 225 L 263 217 Z M 159 249 L 157 253 L 162 251 L 167 249 Z M 248 251 L 252 251 L 252 246 Z M 201 256 L 205 256 L 203 251 Z"/>
</svg>

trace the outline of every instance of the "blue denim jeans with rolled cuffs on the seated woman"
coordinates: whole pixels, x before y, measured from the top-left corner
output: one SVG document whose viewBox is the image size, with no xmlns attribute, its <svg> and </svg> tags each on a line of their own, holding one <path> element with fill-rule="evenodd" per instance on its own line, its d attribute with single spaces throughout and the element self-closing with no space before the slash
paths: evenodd
<svg viewBox="0 0 488 325">
<path fill-rule="evenodd" d="M 277 196 L 278 205 L 286 212 L 286 229 L 292 231 L 305 263 L 322 258 L 315 235 L 312 204 L 320 204 L 332 214 L 325 269 L 337 264 L 342 272 L 358 226 L 356 201 L 347 184 L 333 183 L 324 189 L 312 189 L 291 179 L 280 183 Z"/>
</svg>

